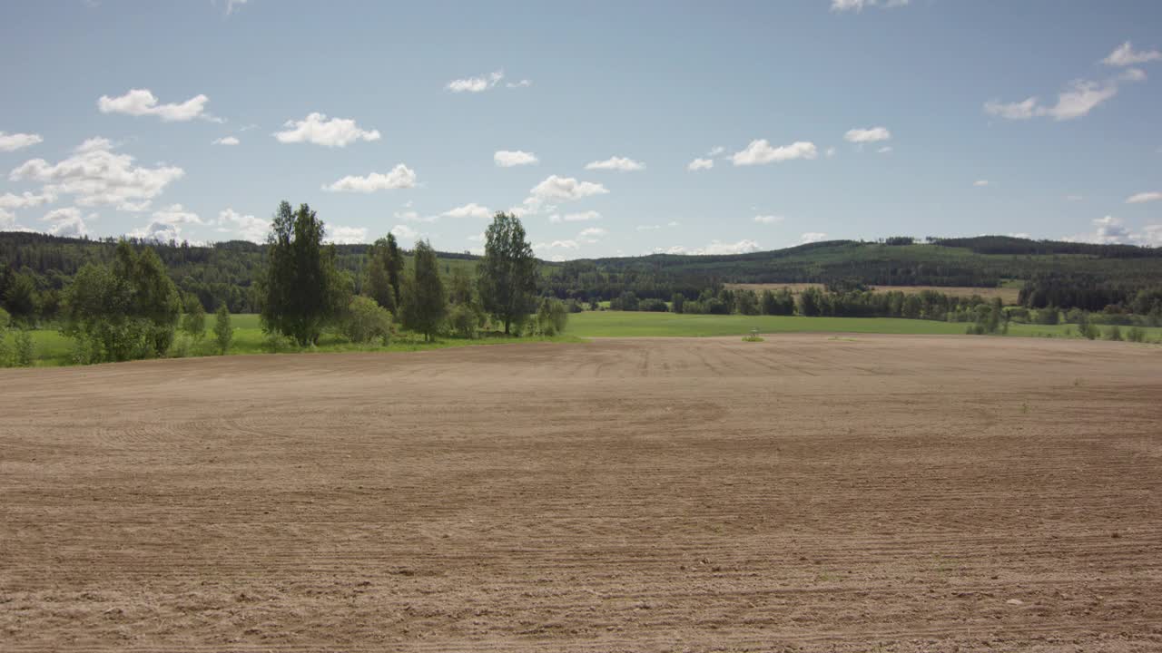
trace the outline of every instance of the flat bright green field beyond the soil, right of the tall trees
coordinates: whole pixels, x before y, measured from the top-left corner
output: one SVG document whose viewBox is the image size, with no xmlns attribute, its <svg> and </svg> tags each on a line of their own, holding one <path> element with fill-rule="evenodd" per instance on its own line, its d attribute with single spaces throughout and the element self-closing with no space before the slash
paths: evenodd
<svg viewBox="0 0 1162 653">
<path fill-rule="evenodd" d="M 659 336 L 744 336 L 752 329 L 760 333 L 911 333 L 963 335 L 961 322 L 934 322 L 899 317 L 789 317 L 776 315 L 676 315 L 673 313 L 626 313 L 616 310 L 575 313 L 569 316 L 567 335 L 580 338 L 659 337 Z M 1102 328 L 1104 333 L 1107 326 Z M 1121 328 L 1125 336 L 1127 326 Z M 1162 328 L 1146 329 L 1150 340 L 1162 338 Z M 1010 324 L 1010 336 L 1077 336 L 1077 326 L 1056 324 Z"/>
</svg>

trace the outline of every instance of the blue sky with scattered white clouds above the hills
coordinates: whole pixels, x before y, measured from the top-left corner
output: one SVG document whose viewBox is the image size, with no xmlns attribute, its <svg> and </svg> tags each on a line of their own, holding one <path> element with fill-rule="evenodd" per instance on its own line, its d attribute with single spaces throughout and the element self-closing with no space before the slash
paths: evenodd
<svg viewBox="0 0 1162 653">
<path fill-rule="evenodd" d="M 0 3 L 0 230 L 1162 246 L 1162 2 Z"/>
</svg>

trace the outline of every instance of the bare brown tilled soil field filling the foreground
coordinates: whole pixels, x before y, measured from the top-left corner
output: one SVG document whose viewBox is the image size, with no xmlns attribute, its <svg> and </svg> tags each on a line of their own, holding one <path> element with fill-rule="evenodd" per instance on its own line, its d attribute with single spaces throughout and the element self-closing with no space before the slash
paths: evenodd
<svg viewBox="0 0 1162 653">
<path fill-rule="evenodd" d="M 1160 651 L 1162 350 L 0 371 L 0 651 Z"/>
</svg>

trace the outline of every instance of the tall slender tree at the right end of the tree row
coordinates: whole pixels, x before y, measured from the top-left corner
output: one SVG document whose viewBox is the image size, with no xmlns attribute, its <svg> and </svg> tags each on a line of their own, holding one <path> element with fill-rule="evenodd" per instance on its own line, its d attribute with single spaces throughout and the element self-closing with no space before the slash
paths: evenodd
<svg viewBox="0 0 1162 653">
<path fill-rule="evenodd" d="M 504 324 L 508 335 L 510 325 L 523 321 L 536 307 L 537 259 L 518 217 L 503 211 L 493 217 L 478 270 L 485 310 Z"/>
</svg>

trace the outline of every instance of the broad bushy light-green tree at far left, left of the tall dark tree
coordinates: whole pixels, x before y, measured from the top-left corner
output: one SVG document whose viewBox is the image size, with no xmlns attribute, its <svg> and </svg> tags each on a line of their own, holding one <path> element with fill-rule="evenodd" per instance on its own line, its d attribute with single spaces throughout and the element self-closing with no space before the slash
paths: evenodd
<svg viewBox="0 0 1162 653">
<path fill-rule="evenodd" d="M 157 254 L 121 242 L 110 265 L 86 265 L 65 289 L 62 332 L 79 340 L 79 363 L 151 358 L 168 351 L 179 315 Z"/>
</svg>

